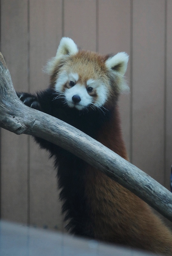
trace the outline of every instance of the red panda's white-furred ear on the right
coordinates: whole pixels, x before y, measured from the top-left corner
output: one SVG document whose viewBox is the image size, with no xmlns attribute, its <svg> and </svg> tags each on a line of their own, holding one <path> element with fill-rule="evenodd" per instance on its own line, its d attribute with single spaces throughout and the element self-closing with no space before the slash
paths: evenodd
<svg viewBox="0 0 172 256">
<path fill-rule="evenodd" d="M 108 68 L 109 71 L 115 71 L 115 73 L 119 72 L 120 75 L 124 76 L 127 69 L 128 58 L 129 56 L 125 52 L 118 52 L 105 61 L 106 68 Z"/>
</svg>

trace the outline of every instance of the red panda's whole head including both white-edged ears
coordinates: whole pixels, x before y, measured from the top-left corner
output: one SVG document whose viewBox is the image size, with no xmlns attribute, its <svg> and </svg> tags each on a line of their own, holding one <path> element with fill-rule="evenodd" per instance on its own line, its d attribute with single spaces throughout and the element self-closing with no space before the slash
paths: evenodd
<svg viewBox="0 0 172 256">
<path fill-rule="evenodd" d="M 61 39 L 56 56 L 47 64 L 51 87 L 69 107 L 100 108 L 112 105 L 119 92 L 127 88 L 124 74 L 128 55 L 103 56 L 79 50 L 68 37 Z"/>
</svg>

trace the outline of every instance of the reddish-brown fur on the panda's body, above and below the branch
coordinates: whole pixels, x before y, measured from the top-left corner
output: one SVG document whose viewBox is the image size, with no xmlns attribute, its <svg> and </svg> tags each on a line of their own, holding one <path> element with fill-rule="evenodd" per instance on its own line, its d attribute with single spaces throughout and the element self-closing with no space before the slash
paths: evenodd
<svg viewBox="0 0 172 256">
<path fill-rule="evenodd" d="M 118 110 L 98 141 L 128 160 Z M 87 171 L 86 194 L 97 239 L 172 255 L 170 231 L 145 202 L 95 168 Z"/>
</svg>

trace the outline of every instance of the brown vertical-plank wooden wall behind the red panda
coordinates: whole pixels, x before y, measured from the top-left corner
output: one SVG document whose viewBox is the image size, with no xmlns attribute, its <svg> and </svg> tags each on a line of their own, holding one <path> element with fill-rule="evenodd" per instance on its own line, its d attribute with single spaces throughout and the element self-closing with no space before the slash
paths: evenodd
<svg viewBox="0 0 172 256">
<path fill-rule="evenodd" d="M 1 0 L 1 52 L 17 91 L 47 87 L 41 72 L 62 36 L 130 55 L 120 97 L 131 162 L 169 188 L 172 164 L 171 0 Z M 62 230 L 56 172 L 31 137 L 1 129 L 1 217 Z"/>
</svg>

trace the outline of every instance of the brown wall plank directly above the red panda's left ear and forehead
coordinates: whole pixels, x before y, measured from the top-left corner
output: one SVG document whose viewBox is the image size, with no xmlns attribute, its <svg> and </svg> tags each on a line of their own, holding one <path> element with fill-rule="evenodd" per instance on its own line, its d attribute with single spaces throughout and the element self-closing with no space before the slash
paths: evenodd
<svg viewBox="0 0 172 256">
<path fill-rule="evenodd" d="M 96 51 L 96 0 L 64 0 L 64 36 Z"/>
</svg>

